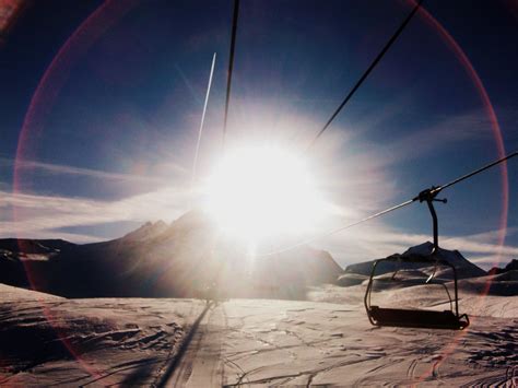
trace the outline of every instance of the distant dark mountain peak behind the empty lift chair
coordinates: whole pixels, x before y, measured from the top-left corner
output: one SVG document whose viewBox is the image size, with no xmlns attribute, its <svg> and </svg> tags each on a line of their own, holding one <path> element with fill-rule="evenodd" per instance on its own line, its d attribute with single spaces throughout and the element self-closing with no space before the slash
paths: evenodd
<svg viewBox="0 0 518 388">
<path fill-rule="evenodd" d="M 429 242 L 414 246 L 405 250 L 403 254 L 396 254 L 390 256 L 393 259 L 401 259 L 401 261 L 385 261 L 377 266 L 376 275 L 395 272 L 396 270 L 416 270 L 431 267 L 429 262 L 413 261 L 416 258 L 427 257 L 432 254 L 434 245 Z M 467 260 L 458 250 L 448 250 L 439 248 L 436 254 L 438 258 L 448 261 L 457 270 L 458 279 L 484 277 L 487 274 L 482 268 L 473 264 Z M 345 268 L 345 273 L 355 273 L 361 275 L 370 275 L 375 260 L 358 262 L 350 264 Z M 432 263 L 433 266 L 433 263 Z M 446 268 L 437 269 L 437 277 L 451 277 L 451 272 Z"/>
</svg>

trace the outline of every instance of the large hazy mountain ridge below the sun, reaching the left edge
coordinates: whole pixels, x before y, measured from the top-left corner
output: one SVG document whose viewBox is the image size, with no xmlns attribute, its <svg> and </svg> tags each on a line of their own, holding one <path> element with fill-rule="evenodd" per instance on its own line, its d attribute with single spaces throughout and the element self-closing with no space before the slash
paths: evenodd
<svg viewBox="0 0 518 388">
<path fill-rule="evenodd" d="M 67 297 L 204 297 L 217 293 L 220 297 L 301 299 L 308 285 L 332 283 L 342 272 L 328 252 L 309 247 L 251 259 L 233 242 L 221 238 L 201 211 L 186 213 L 170 225 L 145 223 L 109 242 L 30 242 L 32 250 L 39 245 L 38 252 L 48 249 L 47 260 L 22 260 L 20 246 L 14 255 L 15 245 L 0 240 L 5 255 L 14 258 L 0 262 L 0 282 L 32 284 Z"/>
</svg>

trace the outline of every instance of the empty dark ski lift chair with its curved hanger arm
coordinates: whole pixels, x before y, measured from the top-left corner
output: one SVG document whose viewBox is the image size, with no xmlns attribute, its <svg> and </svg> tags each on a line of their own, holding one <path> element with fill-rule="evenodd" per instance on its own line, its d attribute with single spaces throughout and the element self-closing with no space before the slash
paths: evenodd
<svg viewBox="0 0 518 388">
<path fill-rule="evenodd" d="M 459 315 L 459 299 L 458 299 L 458 286 L 457 286 L 457 270 L 454 264 L 442 259 L 438 250 L 438 233 L 437 233 L 437 214 L 435 212 L 433 201 L 440 201 L 446 203 L 446 199 L 435 199 L 434 188 L 422 191 L 416 199 L 421 202 L 426 201 L 432 219 L 434 222 L 434 249 L 428 256 L 411 255 L 404 256 L 390 256 L 385 259 L 376 260 L 370 271 L 370 278 L 368 280 L 367 290 L 365 292 L 364 304 L 367 311 L 368 320 L 374 326 L 392 326 L 392 327 L 411 327 L 411 328 L 428 328 L 428 329 L 450 329 L 450 330 L 462 330 L 470 325 L 468 315 Z M 425 281 L 425 284 L 432 283 L 437 267 L 449 267 L 454 273 L 454 291 L 455 298 L 451 299 L 451 295 L 448 287 L 444 283 L 438 283 L 444 286 L 449 298 L 450 309 L 449 310 L 424 310 L 424 309 L 404 309 L 404 308 L 385 308 L 379 306 L 373 306 L 370 304 L 370 295 L 373 293 L 373 283 L 376 275 L 376 268 L 382 262 L 413 262 L 413 263 L 429 263 L 434 266 L 433 273 Z M 395 272 L 391 280 L 396 280 Z M 437 284 L 437 283 L 434 283 Z M 455 305 L 455 306 L 454 306 Z"/>
</svg>

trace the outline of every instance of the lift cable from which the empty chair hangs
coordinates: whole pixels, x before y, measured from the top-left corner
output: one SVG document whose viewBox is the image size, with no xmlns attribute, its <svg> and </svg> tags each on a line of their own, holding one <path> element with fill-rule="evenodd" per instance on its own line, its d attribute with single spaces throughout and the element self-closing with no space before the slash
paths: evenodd
<svg viewBox="0 0 518 388">
<path fill-rule="evenodd" d="M 503 162 L 505 162 L 505 161 L 507 161 L 507 160 L 509 160 L 509 158 L 511 158 L 511 157 L 515 157 L 515 156 L 517 156 L 517 155 L 518 155 L 518 151 L 515 151 L 515 152 L 513 152 L 513 153 L 506 155 L 505 157 L 502 157 L 502 158 L 499 158 L 499 160 L 497 160 L 497 161 L 495 161 L 495 162 L 492 162 L 492 163 L 490 163 L 490 164 L 487 164 L 487 165 L 485 165 L 485 166 L 483 166 L 483 167 L 481 167 L 481 168 L 478 168 L 478 169 L 475 169 L 475 171 L 473 171 L 473 172 L 471 172 L 471 173 L 469 173 L 469 174 L 466 174 L 466 175 L 463 175 L 463 176 L 461 176 L 461 177 L 459 177 L 459 178 L 457 178 L 457 179 L 454 179 L 454 180 L 451 180 L 450 183 L 448 183 L 448 184 L 446 184 L 446 185 L 438 186 L 438 187 L 432 186 L 429 189 L 426 189 L 426 190 L 421 191 L 417 196 L 415 196 L 415 197 L 412 198 L 412 199 L 409 199 L 408 201 L 404 201 L 404 202 L 401 202 L 401 203 L 399 203 L 399 204 L 396 204 L 396 205 L 393 205 L 393 207 L 391 207 L 391 208 L 385 209 L 385 210 L 382 210 L 382 211 L 380 211 L 380 212 L 377 212 L 377 213 L 375 213 L 375 214 L 372 214 L 372 215 L 369 215 L 369 216 L 366 216 L 365 219 L 362 219 L 362 220 L 356 221 L 356 222 L 353 222 L 353 223 L 351 223 L 351 224 L 348 224 L 348 225 L 344 225 L 344 226 L 341 226 L 341 227 L 331 230 L 331 231 L 329 231 L 329 232 L 327 232 L 327 233 L 325 233 L 325 234 L 321 234 L 321 235 L 311 237 L 311 238 L 309 238 L 309 239 L 306 239 L 306 240 L 304 240 L 304 242 L 301 242 L 301 243 L 291 245 L 291 246 L 289 246 L 289 247 L 281 248 L 281 249 L 278 249 L 278 250 L 274 250 L 274 251 L 270 251 L 270 252 L 267 252 L 267 254 L 262 254 L 262 255 L 256 255 L 255 257 L 268 257 L 268 256 L 273 256 L 273 255 L 283 254 L 283 252 L 286 252 L 286 251 L 290 251 L 290 250 L 299 248 L 299 247 L 302 247 L 302 246 L 305 246 L 305 245 L 307 245 L 307 244 L 309 244 L 309 243 L 313 243 L 313 242 L 315 242 L 315 240 L 318 240 L 318 239 L 321 239 L 321 238 L 325 238 L 325 237 L 329 237 L 329 236 L 331 236 L 331 235 L 333 235 L 333 234 L 337 234 L 337 233 L 339 233 L 339 232 L 345 231 L 345 230 L 348 230 L 348 228 L 350 228 L 350 227 L 356 226 L 356 225 L 362 224 L 362 223 L 364 223 L 364 222 L 366 222 L 366 221 L 369 221 L 369 220 L 373 220 L 373 219 L 377 219 L 377 217 L 379 217 L 379 216 L 381 216 L 381 215 L 385 215 L 385 214 L 390 213 L 390 212 L 392 212 L 392 211 L 395 211 L 395 210 L 401 209 L 401 208 L 403 208 L 403 207 L 405 207 L 405 205 L 408 205 L 408 204 L 411 204 L 411 203 L 413 203 L 413 202 L 416 202 L 416 201 L 423 202 L 423 201 L 427 201 L 427 200 L 433 200 L 442 190 L 444 190 L 444 189 L 446 189 L 446 188 L 448 188 L 448 187 L 451 187 L 451 186 L 454 186 L 454 185 L 457 185 L 458 183 L 460 183 L 460 181 L 462 181 L 462 180 L 466 180 L 466 179 L 468 179 L 468 178 L 471 178 L 472 176 L 474 176 L 474 175 L 476 175 L 476 174 L 480 174 L 480 173 L 482 173 L 482 172 L 484 172 L 484 171 L 486 171 L 486 169 L 488 169 L 488 168 L 491 168 L 491 167 L 493 167 L 493 166 L 495 166 L 495 165 L 497 165 L 497 164 L 501 164 L 501 163 L 503 163 Z"/>
</svg>

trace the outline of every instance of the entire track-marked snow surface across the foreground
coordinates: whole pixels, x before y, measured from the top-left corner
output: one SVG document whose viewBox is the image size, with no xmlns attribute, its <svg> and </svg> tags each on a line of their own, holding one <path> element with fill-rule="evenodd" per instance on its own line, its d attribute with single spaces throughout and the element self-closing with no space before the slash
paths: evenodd
<svg viewBox="0 0 518 388">
<path fill-rule="evenodd" d="M 363 291 L 325 286 L 310 294 L 334 303 L 221 302 L 187 343 L 203 301 L 66 299 L 1 286 L 0 385 L 153 386 L 174 360 L 169 386 L 518 383 L 518 297 L 462 292 L 463 308 L 486 302 L 467 330 L 449 331 L 373 327 Z M 422 286 L 379 294 L 400 302 L 428 296 L 421 304 L 433 304 Z M 493 310 L 498 304 L 514 313 Z"/>
</svg>

